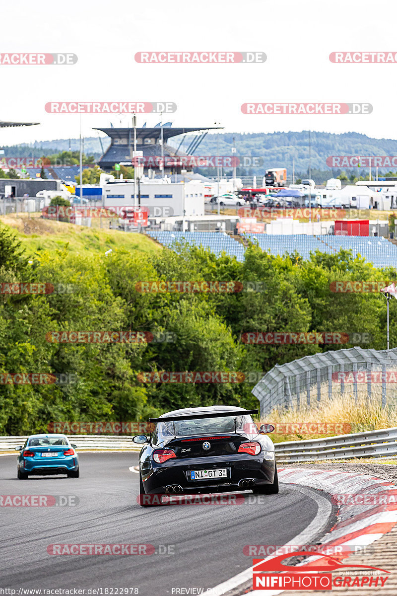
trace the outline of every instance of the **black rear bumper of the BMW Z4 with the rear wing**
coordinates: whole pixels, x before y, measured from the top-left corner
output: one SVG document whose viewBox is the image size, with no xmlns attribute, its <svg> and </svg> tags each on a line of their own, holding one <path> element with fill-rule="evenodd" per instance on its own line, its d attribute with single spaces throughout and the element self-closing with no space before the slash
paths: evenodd
<svg viewBox="0 0 397 596">
<path fill-rule="evenodd" d="M 240 480 L 253 479 L 255 486 L 273 483 L 275 460 L 264 460 L 262 454 L 249 457 L 245 454 L 218 457 L 184 458 L 168 460 L 164 464 L 151 462 L 151 467 L 141 465 L 143 486 L 146 494 L 165 493 L 170 485 L 182 486 L 188 494 L 244 491 L 239 488 Z M 227 469 L 227 477 L 207 480 L 191 480 L 191 470 Z"/>
</svg>

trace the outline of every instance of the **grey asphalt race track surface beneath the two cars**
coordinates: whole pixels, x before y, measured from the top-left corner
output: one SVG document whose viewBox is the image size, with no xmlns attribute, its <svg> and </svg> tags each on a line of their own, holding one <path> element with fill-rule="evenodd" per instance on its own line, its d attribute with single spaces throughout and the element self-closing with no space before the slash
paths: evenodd
<svg viewBox="0 0 397 596">
<path fill-rule="evenodd" d="M 29 480 L 17 480 L 16 457 L 0 457 L 1 495 L 79 499 L 74 507 L 1 507 L 4 588 L 138 588 L 129 594 L 141 596 L 205 591 L 251 566 L 244 545 L 286 544 L 318 511 L 316 501 L 292 485 L 280 485 L 279 495 L 261 495 L 260 503 L 249 503 L 247 492 L 242 505 L 143 509 L 136 502 L 139 476 L 129 470 L 137 453 L 79 457 L 79 479 Z M 46 550 L 50 544 L 151 544 L 157 554 L 54 556 Z"/>
</svg>

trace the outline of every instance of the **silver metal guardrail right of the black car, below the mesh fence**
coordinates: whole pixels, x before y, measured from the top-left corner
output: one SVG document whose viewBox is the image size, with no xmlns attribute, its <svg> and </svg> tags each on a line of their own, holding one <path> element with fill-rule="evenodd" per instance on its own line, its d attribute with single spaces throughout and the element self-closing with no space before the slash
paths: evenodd
<svg viewBox="0 0 397 596">
<path fill-rule="evenodd" d="M 326 439 L 286 441 L 274 445 L 280 464 L 314 460 L 385 457 L 397 455 L 397 427 Z"/>
</svg>

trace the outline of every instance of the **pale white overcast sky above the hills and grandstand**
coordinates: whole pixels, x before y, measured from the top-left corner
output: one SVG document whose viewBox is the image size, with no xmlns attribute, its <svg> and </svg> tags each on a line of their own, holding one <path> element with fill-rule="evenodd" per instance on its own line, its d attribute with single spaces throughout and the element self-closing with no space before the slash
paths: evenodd
<svg viewBox="0 0 397 596">
<path fill-rule="evenodd" d="M 388 23 L 397 5 L 368 0 L 202 0 L 110 3 L 19 0 L 2 4 L 0 53 L 71 52 L 70 66 L 0 65 L 0 120 L 40 122 L 0 129 L 2 145 L 79 136 L 79 116 L 48 114 L 49 101 L 173 101 L 163 122 L 226 131 L 312 129 L 396 138 L 397 64 L 332 64 L 333 51 L 394 51 Z M 139 51 L 262 51 L 264 64 L 138 64 Z M 246 115 L 246 102 L 367 102 L 365 115 Z M 130 116 L 85 114 L 93 126 Z M 160 120 L 138 117 L 138 126 Z"/>
</svg>

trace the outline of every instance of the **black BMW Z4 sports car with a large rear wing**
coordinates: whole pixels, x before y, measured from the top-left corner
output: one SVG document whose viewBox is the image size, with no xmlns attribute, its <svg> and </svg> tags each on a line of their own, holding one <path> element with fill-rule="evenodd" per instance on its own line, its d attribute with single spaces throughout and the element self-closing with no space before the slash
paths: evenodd
<svg viewBox="0 0 397 596">
<path fill-rule="evenodd" d="M 164 493 L 279 492 L 273 442 L 251 418 L 258 410 L 236 406 L 185 408 L 150 418 L 155 430 L 133 437 L 139 454 L 139 502 Z M 160 504 L 157 502 L 157 504 Z"/>
</svg>

